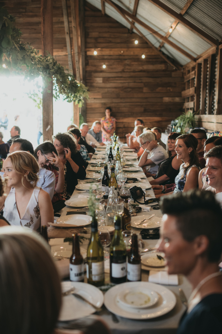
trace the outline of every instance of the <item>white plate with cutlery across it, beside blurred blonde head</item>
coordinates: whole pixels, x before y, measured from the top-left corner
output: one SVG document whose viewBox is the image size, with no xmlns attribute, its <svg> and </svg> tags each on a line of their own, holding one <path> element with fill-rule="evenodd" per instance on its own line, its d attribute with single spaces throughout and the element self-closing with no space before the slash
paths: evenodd
<svg viewBox="0 0 222 334">
<path fill-rule="evenodd" d="M 92 284 L 83 282 L 62 282 L 62 292 L 66 292 L 72 287 L 76 288 L 76 293 L 81 295 L 97 307 L 103 305 L 103 293 Z M 96 310 L 86 302 L 76 298 L 74 295 L 63 297 L 62 308 L 59 315 L 59 321 L 68 321 L 87 317 Z"/>
</svg>

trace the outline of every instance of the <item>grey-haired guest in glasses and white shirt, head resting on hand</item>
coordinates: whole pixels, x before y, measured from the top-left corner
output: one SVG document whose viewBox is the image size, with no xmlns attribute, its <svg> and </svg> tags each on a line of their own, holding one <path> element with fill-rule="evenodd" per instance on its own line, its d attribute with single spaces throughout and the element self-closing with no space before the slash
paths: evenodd
<svg viewBox="0 0 222 334">
<path fill-rule="evenodd" d="M 156 174 L 159 168 L 158 165 L 168 158 L 166 150 L 157 144 L 152 132 L 142 133 L 138 136 L 137 141 L 139 146 L 144 149 L 144 152 L 139 159 L 138 166 L 148 166 L 146 171 L 151 174 Z"/>
</svg>

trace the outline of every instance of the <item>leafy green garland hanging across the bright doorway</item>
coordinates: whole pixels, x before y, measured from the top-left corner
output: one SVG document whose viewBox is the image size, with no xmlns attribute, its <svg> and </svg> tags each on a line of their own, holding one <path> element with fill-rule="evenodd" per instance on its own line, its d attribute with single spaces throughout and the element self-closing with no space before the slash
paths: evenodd
<svg viewBox="0 0 222 334">
<path fill-rule="evenodd" d="M 30 43 L 22 43 L 22 32 L 15 27 L 14 22 L 15 18 L 0 7 L 0 74 L 22 74 L 29 81 L 41 76 L 43 88 L 37 84 L 41 93 L 48 88 L 53 78 L 54 98 L 58 100 L 62 95 L 64 101 L 75 101 L 82 107 L 84 99 L 89 97 L 87 87 L 75 80 L 74 75 L 65 73 L 64 67 L 53 56 L 39 55 L 39 50 Z"/>
</svg>

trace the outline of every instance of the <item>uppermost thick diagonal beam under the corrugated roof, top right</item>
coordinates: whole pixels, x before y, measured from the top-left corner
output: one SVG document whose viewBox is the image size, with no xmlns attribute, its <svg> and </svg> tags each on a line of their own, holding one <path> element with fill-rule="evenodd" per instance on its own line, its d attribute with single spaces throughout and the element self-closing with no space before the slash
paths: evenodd
<svg viewBox="0 0 222 334">
<path fill-rule="evenodd" d="M 157 6 L 158 8 L 162 9 L 165 13 L 169 14 L 170 16 L 177 19 L 181 24 L 183 24 L 188 29 L 192 30 L 193 32 L 197 33 L 201 38 L 205 39 L 208 43 L 212 45 L 218 45 L 218 40 L 207 34 L 202 29 L 198 28 L 195 24 L 191 23 L 187 19 L 185 19 L 181 14 L 178 14 L 170 7 L 166 6 L 160 0 L 147 0 L 151 2 L 153 5 Z"/>
</svg>

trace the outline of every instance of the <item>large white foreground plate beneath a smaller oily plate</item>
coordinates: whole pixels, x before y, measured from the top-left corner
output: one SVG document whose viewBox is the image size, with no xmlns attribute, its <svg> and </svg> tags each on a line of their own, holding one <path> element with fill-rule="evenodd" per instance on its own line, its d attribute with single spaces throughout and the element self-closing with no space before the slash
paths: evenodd
<svg viewBox="0 0 222 334">
<path fill-rule="evenodd" d="M 135 309 L 127 306 L 123 306 L 119 303 L 117 296 L 124 289 L 132 288 L 147 288 L 155 291 L 158 296 L 158 302 L 150 308 Z M 126 282 L 117 284 L 105 293 L 104 304 L 106 308 L 115 313 L 116 315 L 128 318 L 146 320 L 159 317 L 163 314 L 170 312 L 176 305 L 176 297 L 169 289 L 162 285 L 149 282 Z"/>
</svg>

